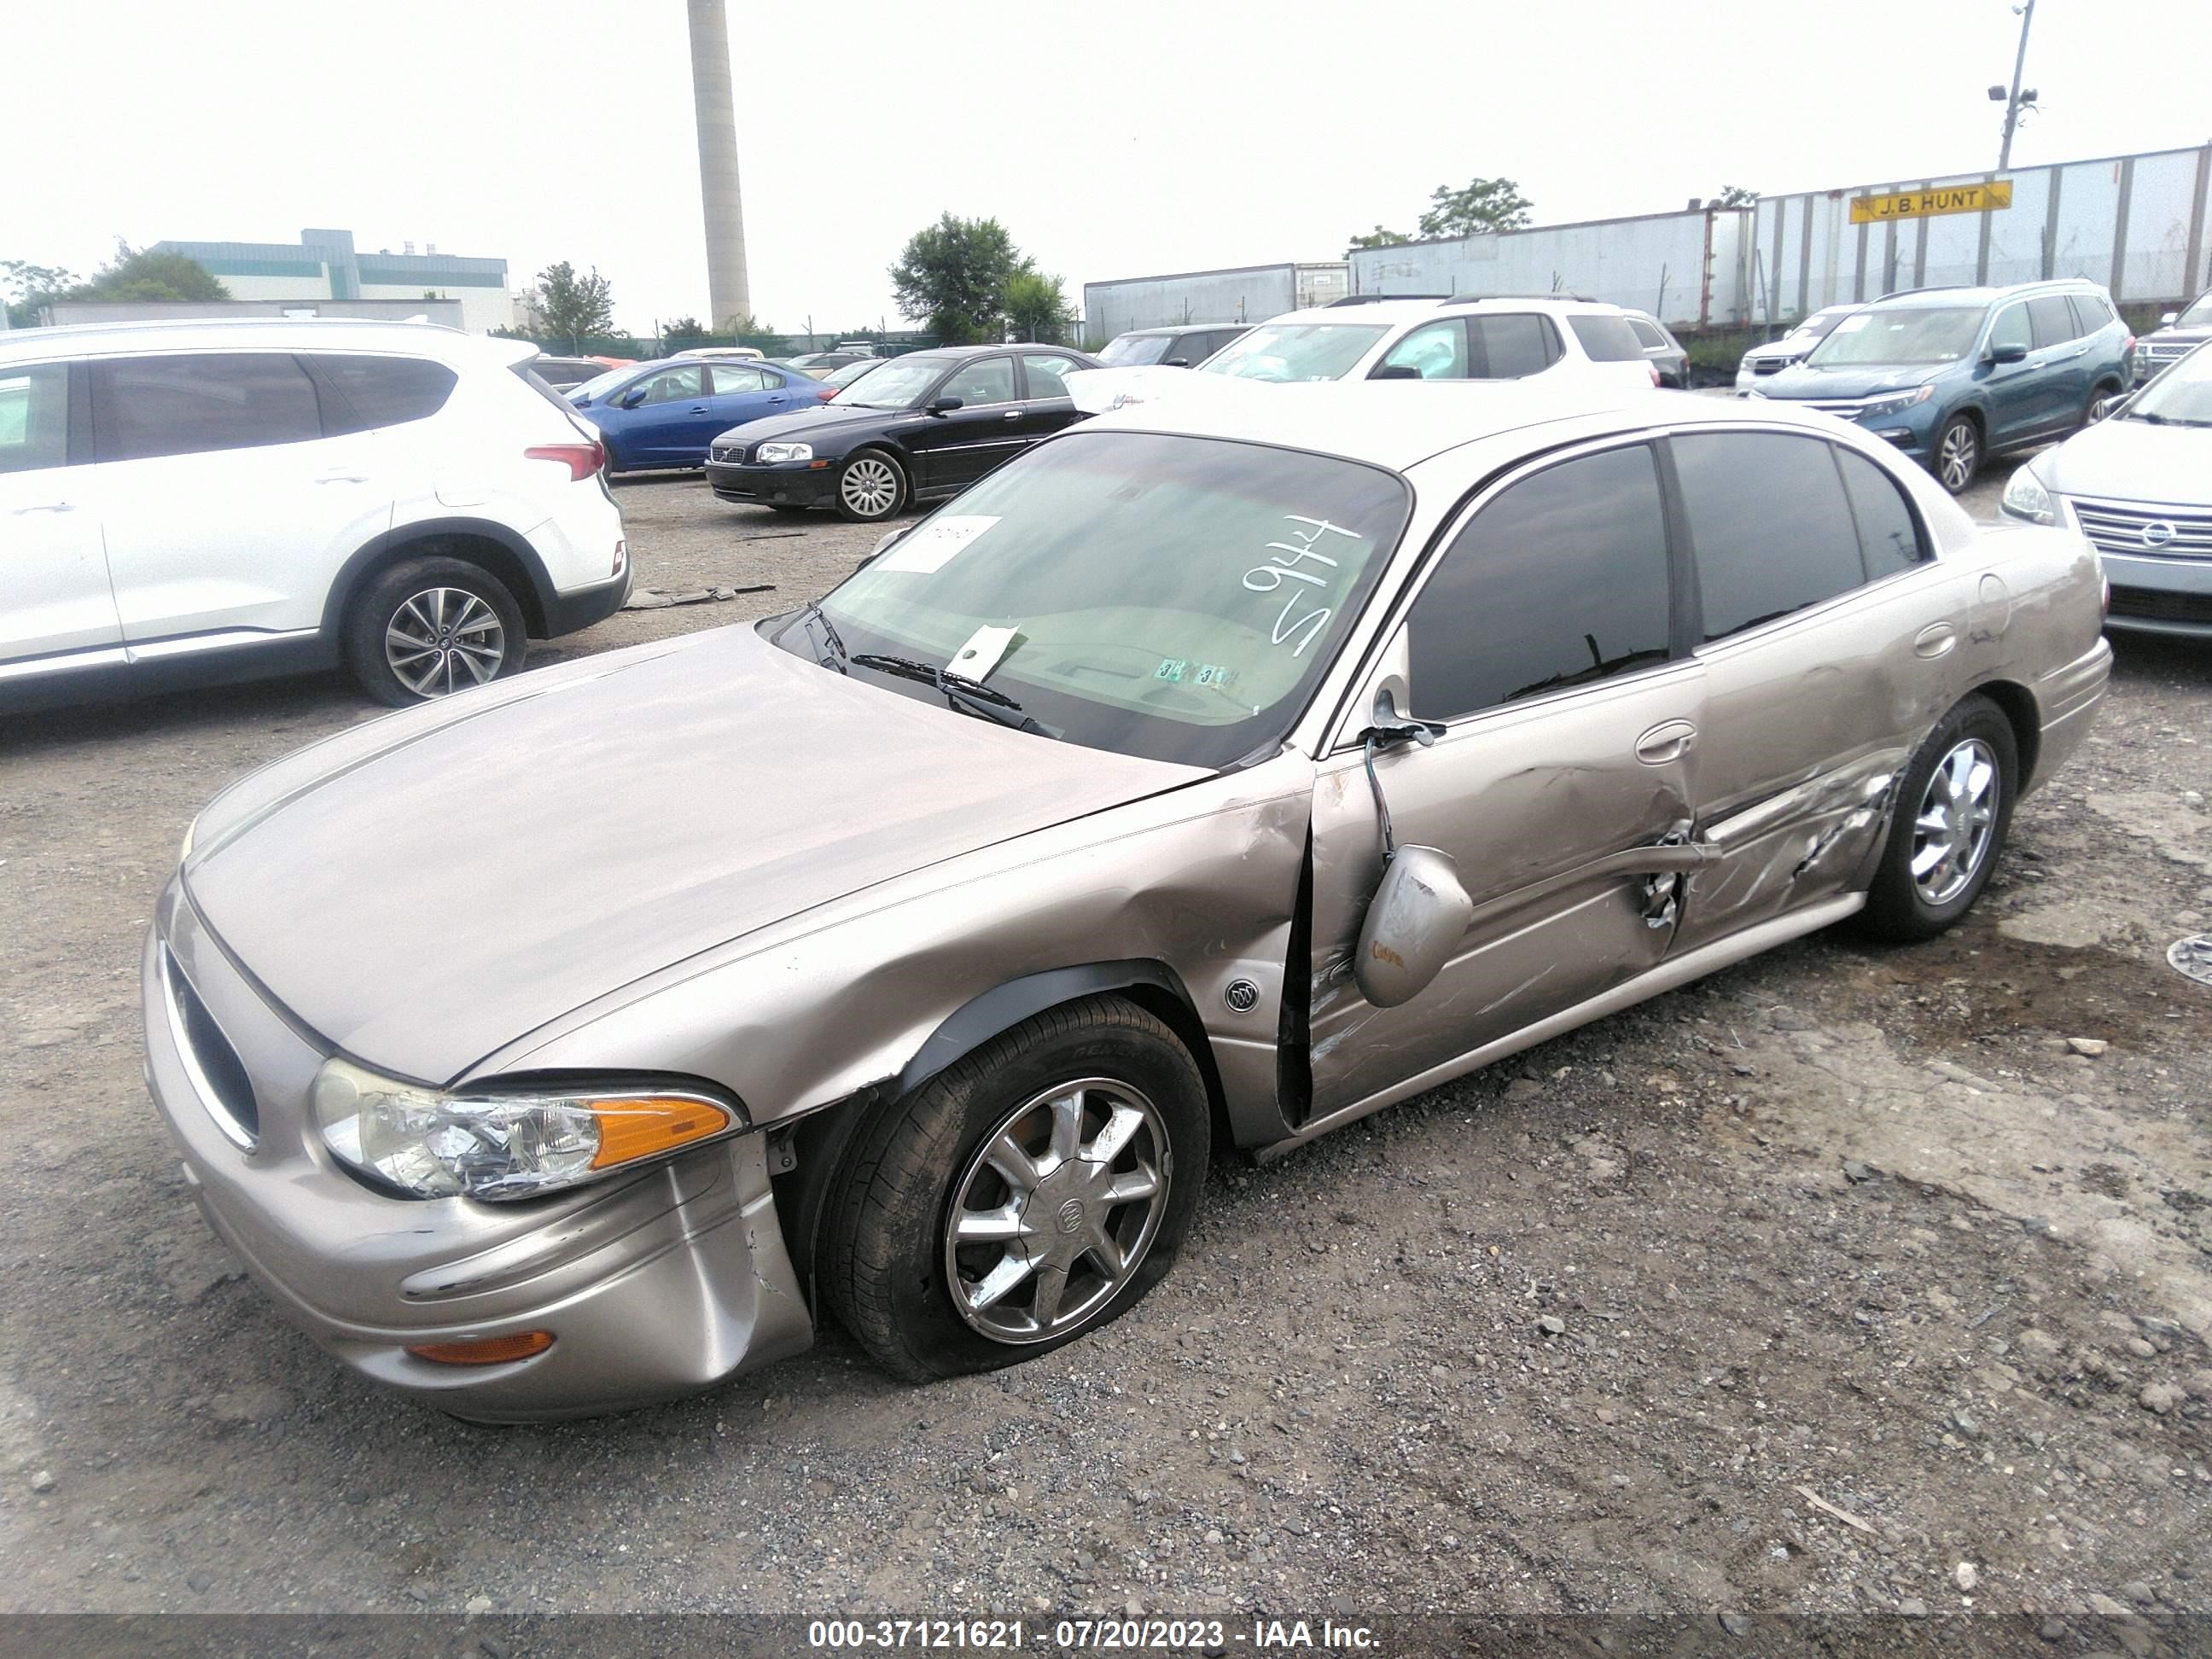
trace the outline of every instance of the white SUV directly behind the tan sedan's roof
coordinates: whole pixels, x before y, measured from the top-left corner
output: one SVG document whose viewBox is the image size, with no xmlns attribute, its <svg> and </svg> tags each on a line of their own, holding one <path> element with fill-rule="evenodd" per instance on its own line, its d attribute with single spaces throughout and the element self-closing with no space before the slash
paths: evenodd
<svg viewBox="0 0 2212 1659">
<path fill-rule="evenodd" d="M 1615 389 L 1659 374 L 1619 305 L 1577 299 L 1383 299 L 1274 316 L 1197 367 L 1245 380 L 1546 380 Z"/>
</svg>

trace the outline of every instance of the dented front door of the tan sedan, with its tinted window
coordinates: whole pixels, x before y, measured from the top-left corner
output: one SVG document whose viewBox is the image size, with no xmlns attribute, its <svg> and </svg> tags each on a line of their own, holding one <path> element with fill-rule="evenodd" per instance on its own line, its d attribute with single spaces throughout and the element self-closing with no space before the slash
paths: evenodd
<svg viewBox="0 0 2212 1659">
<path fill-rule="evenodd" d="M 1506 476 L 1418 577 L 1314 785 L 1310 1124 L 1668 953 L 1701 856 L 1705 701 L 1670 566 L 1652 447 L 1613 442 Z M 1402 714 L 1442 730 L 1398 741 Z M 1369 770 L 1376 726 L 1396 737 Z M 1398 856 L 1429 876 L 1440 854 L 1471 900 L 1440 971 L 1394 1006 L 1363 995 L 1378 980 L 1356 960 L 1385 812 Z"/>
</svg>

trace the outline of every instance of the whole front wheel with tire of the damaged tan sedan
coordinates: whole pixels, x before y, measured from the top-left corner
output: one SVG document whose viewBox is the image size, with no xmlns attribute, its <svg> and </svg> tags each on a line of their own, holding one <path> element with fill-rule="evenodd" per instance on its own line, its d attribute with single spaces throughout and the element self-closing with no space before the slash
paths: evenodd
<svg viewBox="0 0 2212 1659">
<path fill-rule="evenodd" d="M 1199 1068 L 1150 1013 L 1040 1013 L 863 1130 L 827 1214 L 830 1307 L 909 1383 L 1048 1354 L 1175 1265 L 1210 1137 Z"/>
</svg>

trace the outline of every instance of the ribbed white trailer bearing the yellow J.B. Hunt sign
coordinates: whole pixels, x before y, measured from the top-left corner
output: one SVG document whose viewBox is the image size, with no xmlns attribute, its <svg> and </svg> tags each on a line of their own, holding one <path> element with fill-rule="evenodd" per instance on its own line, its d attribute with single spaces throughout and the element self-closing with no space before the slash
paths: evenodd
<svg viewBox="0 0 2212 1659">
<path fill-rule="evenodd" d="M 2004 208 L 1851 223 L 1851 197 L 1997 179 L 2013 186 Z M 1763 197 L 1752 321 L 1785 323 L 1900 288 L 2046 276 L 2086 276 L 2124 303 L 2190 299 L 2212 288 L 2208 186 L 2212 144 Z"/>
</svg>

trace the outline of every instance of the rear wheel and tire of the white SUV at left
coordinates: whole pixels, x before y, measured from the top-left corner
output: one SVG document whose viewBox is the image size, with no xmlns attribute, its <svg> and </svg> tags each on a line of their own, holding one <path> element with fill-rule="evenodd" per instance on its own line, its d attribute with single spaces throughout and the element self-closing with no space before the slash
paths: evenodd
<svg viewBox="0 0 2212 1659">
<path fill-rule="evenodd" d="M 522 666 L 522 606 L 480 564 L 394 564 L 354 599 L 345 657 L 378 703 L 405 708 L 482 686 Z"/>
</svg>

